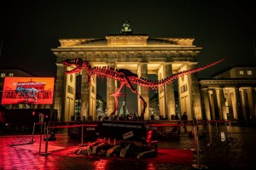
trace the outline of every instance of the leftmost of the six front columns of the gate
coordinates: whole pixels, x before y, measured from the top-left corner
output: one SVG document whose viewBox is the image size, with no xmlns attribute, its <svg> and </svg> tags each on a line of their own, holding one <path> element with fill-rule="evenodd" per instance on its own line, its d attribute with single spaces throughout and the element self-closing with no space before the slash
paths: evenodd
<svg viewBox="0 0 256 170">
<path fill-rule="evenodd" d="M 58 111 L 57 119 L 59 121 L 64 121 L 65 115 L 65 96 L 67 87 L 67 76 L 65 74 L 66 68 L 62 64 L 57 65 L 57 73 L 55 80 L 55 103 L 54 108 Z"/>
</svg>

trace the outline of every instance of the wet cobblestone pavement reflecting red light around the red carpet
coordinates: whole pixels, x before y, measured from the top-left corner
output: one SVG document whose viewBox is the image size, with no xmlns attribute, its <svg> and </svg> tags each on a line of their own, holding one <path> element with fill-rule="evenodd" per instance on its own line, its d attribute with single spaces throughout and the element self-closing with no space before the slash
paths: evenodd
<svg viewBox="0 0 256 170">
<path fill-rule="evenodd" d="M 109 161 L 104 159 L 84 159 L 73 156 L 41 156 L 38 150 L 25 150 L 11 147 L 9 144 L 25 144 L 32 135 L 0 136 L 0 169 L 98 169 L 98 170 L 166 170 L 166 169 L 252 169 L 256 166 L 256 127 L 199 127 L 205 135 L 199 138 L 199 151 L 194 152 L 194 162 L 190 165 L 152 163 L 144 161 Z M 228 129 L 228 130 L 227 130 Z M 231 129 L 231 131 L 229 131 Z M 211 133 L 209 133 L 211 132 Z M 221 141 L 220 132 L 225 132 L 225 141 Z M 229 133 L 228 133 L 229 132 Z M 36 143 L 40 141 L 34 136 Z M 78 145 L 80 139 L 72 139 L 67 133 L 57 133 L 57 140 L 49 144 L 61 147 Z M 160 139 L 160 148 L 191 149 L 197 145 L 195 139 L 182 132 L 177 139 Z"/>
</svg>

